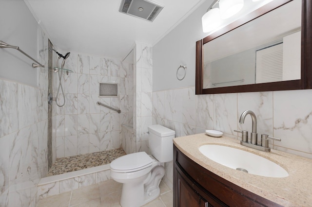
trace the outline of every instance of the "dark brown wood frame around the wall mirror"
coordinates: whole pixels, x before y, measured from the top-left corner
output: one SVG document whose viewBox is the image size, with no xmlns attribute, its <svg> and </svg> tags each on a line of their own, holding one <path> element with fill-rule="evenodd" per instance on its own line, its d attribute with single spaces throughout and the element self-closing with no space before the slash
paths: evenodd
<svg viewBox="0 0 312 207">
<path fill-rule="evenodd" d="M 273 0 L 249 15 L 196 42 L 195 94 L 239 93 L 312 88 L 312 0 L 301 0 L 301 79 L 272 83 L 203 88 L 203 45 L 292 0 Z"/>
</svg>

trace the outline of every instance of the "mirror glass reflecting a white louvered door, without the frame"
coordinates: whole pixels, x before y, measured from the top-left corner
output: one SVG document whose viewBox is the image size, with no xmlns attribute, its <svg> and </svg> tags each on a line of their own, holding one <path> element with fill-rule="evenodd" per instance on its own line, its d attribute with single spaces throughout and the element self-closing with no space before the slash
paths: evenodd
<svg viewBox="0 0 312 207">
<path fill-rule="evenodd" d="M 203 88 L 301 79 L 301 0 L 203 45 Z"/>
</svg>

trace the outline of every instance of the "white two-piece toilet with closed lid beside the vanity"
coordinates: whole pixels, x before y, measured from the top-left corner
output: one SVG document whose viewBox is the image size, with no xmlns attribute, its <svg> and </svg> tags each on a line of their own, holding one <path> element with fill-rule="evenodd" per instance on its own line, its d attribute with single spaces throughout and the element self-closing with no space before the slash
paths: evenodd
<svg viewBox="0 0 312 207">
<path fill-rule="evenodd" d="M 122 183 L 120 205 L 139 207 L 160 194 L 159 183 L 165 175 L 164 163 L 173 160 L 176 132 L 159 124 L 148 127 L 152 155 L 145 152 L 118 157 L 110 164 L 111 178 Z"/>
</svg>

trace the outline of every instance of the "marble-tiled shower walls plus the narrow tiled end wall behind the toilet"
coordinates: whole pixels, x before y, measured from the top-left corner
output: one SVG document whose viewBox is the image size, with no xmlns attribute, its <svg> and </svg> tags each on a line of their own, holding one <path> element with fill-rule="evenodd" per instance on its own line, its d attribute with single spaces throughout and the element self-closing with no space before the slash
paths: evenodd
<svg viewBox="0 0 312 207">
<path fill-rule="evenodd" d="M 142 43 L 136 43 L 134 47 L 135 64 L 74 52 L 66 59 L 65 68 L 74 72 L 64 74 L 64 107 L 53 104 L 56 157 L 120 148 L 122 125 L 134 128 L 135 147 L 129 152 L 149 152 L 147 126 L 152 124 L 152 47 Z M 57 73 L 53 75 L 56 91 L 59 78 Z M 117 83 L 118 97 L 99 97 L 99 83 Z M 59 97 L 62 103 L 62 97 Z M 98 105 L 98 101 L 120 109 L 121 113 Z"/>
</svg>

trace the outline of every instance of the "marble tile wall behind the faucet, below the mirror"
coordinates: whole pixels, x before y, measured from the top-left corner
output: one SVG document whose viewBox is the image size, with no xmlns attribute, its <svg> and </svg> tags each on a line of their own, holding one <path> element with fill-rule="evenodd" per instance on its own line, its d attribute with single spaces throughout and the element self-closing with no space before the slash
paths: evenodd
<svg viewBox="0 0 312 207">
<path fill-rule="evenodd" d="M 235 129 L 251 132 L 252 121 L 238 119 L 247 109 L 257 117 L 257 132 L 282 141 L 270 147 L 312 158 L 312 90 L 268 91 L 195 95 L 195 87 L 153 92 L 153 124 L 176 131 L 176 137 L 204 133 L 206 129 L 222 131 L 240 139 Z M 166 163 L 166 178 L 173 182 L 172 163 Z M 170 172 L 170 173 L 167 173 Z M 168 175 L 168 176 L 167 176 Z"/>
</svg>

